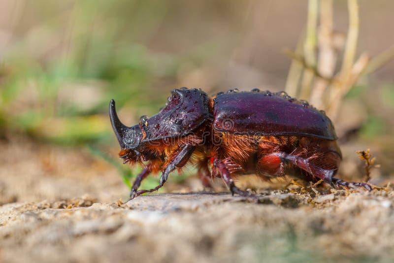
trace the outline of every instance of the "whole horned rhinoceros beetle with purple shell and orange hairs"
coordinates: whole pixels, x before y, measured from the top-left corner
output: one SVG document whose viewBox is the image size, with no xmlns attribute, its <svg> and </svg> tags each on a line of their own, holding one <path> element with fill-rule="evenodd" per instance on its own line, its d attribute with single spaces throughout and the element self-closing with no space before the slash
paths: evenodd
<svg viewBox="0 0 394 263">
<path fill-rule="evenodd" d="M 322 179 L 332 187 L 364 187 L 333 177 L 342 160 L 330 119 L 304 100 L 285 92 L 239 92 L 208 97 L 201 89 L 174 89 L 165 107 L 137 125 L 118 118 L 115 101 L 109 106 L 112 128 L 124 163 L 143 170 L 131 187 L 131 199 L 161 188 L 168 174 L 186 164 L 197 166 L 204 186 L 222 177 L 231 194 L 257 198 L 235 186 L 233 177 L 255 173 L 263 179 L 285 174 L 307 181 Z M 162 172 L 160 183 L 138 190 L 150 173 Z"/>
</svg>

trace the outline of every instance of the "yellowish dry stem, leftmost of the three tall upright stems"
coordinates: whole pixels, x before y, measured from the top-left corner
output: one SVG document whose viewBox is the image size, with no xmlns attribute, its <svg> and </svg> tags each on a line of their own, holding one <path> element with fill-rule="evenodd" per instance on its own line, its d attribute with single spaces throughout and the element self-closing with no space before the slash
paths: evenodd
<svg viewBox="0 0 394 263">
<path fill-rule="evenodd" d="M 308 1 L 308 21 L 306 28 L 306 39 L 304 43 L 304 56 L 306 64 L 316 66 L 316 27 L 318 18 L 318 0 Z M 308 99 L 313 82 L 314 72 L 312 70 L 304 70 L 301 84 L 301 99 Z"/>
</svg>

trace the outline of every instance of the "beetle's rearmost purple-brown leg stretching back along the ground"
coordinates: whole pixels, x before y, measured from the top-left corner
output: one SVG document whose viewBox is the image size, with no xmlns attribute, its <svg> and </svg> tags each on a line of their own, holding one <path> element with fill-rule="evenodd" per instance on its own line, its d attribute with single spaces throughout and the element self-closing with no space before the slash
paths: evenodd
<svg viewBox="0 0 394 263">
<path fill-rule="evenodd" d="M 287 154 L 284 152 L 271 153 L 267 156 L 274 158 L 276 157 L 278 158 L 278 160 L 280 159 L 280 161 L 285 164 L 286 163 L 294 164 L 299 168 L 301 168 L 302 170 L 308 172 L 312 176 L 318 177 L 319 179 L 323 179 L 326 183 L 328 183 L 331 186 L 341 185 L 347 188 L 349 187 L 352 188 L 354 186 L 357 186 L 357 187 L 364 187 L 368 191 L 372 189 L 371 186 L 366 183 L 346 182 L 341 179 L 332 177 L 332 175 L 334 174 L 333 169 L 320 168 L 315 164 L 312 164 L 309 159 L 305 159 L 296 155 Z"/>
</svg>

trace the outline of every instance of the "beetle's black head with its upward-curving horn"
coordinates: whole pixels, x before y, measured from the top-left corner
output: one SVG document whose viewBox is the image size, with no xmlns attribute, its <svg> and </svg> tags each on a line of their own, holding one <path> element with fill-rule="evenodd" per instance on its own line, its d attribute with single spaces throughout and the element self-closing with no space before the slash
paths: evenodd
<svg viewBox="0 0 394 263">
<path fill-rule="evenodd" d="M 111 99 L 109 103 L 109 117 L 111 119 L 112 129 L 115 132 L 122 150 L 136 149 L 141 144 L 143 137 L 141 129 L 138 125 L 127 127 L 119 120 L 118 114 L 116 114 L 115 101 L 113 99 Z"/>
</svg>

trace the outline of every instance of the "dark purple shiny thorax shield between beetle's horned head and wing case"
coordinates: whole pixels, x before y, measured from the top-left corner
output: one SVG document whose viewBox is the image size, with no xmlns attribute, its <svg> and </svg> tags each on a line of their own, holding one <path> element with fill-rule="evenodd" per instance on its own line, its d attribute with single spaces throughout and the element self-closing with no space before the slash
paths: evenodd
<svg viewBox="0 0 394 263">
<path fill-rule="evenodd" d="M 186 88 L 173 90 L 165 107 L 142 123 L 146 133 L 142 142 L 186 135 L 195 131 L 208 115 L 208 97 L 204 92 Z"/>
</svg>

